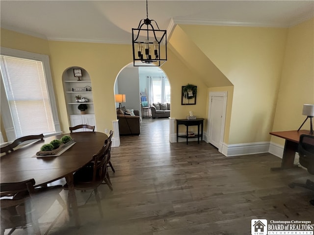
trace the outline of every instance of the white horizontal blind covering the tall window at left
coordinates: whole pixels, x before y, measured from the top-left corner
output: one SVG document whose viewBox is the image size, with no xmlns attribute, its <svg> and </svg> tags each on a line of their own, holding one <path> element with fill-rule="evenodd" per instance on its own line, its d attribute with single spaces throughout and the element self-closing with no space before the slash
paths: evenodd
<svg viewBox="0 0 314 235">
<path fill-rule="evenodd" d="M 0 55 L 0 69 L 16 138 L 55 132 L 42 62 Z"/>
</svg>

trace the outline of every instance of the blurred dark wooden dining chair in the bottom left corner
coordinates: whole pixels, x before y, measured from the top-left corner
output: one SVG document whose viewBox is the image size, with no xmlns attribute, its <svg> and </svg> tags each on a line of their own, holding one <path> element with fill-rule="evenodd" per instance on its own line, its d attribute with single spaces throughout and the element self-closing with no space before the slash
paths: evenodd
<svg viewBox="0 0 314 235">
<path fill-rule="evenodd" d="M 6 229 L 11 229 L 8 233 L 10 235 L 16 229 L 25 229 L 29 225 L 32 225 L 32 231 L 27 231 L 28 234 L 40 235 L 38 219 L 51 208 L 55 200 L 58 200 L 63 209 L 67 210 L 59 194 L 62 190 L 61 185 L 47 188 L 34 188 L 34 185 L 34 179 L 0 184 L 1 235 L 4 235 Z M 59 216 L 52 222 L 46 233 Z"/>
</svg>

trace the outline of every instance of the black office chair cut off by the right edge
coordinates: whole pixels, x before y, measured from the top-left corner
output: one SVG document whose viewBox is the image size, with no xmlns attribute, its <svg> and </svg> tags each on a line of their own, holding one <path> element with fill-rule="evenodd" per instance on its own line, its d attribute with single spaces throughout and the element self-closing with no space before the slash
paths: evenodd
<svg viewBox="0 0 314 235">
<path fill-rule="evenodd" d="M 307 168 L 311 175 L 314 175 L 314 136 L 312 135 L 301 135 L 298 145 L 299 161 L 300 164 Z M 299 186 L 302 188 L 308 188 L 314 191 L 314 182 L 307 180 L 305 184 L 291 183 L 290 188 Z M 310 203 L 314 206 L 314 199 L 310 200 Z"/>
</svg>

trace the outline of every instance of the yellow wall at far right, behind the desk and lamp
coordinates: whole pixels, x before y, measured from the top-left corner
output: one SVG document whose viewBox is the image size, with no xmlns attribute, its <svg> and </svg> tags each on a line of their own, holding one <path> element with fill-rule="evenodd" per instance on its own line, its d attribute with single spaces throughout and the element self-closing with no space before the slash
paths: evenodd
<svg viewBox="0 0 314 235">
<path fill-rule="evenodd" d="M 305 116 L 303 104 L 314 104 L 314 18 L 288 29 L 273 131 L 297 130 Z M 302 129 L 310 129 L 310 120 Z M 284 144 L 284 140 L 271 137 Z"/>
</svg>

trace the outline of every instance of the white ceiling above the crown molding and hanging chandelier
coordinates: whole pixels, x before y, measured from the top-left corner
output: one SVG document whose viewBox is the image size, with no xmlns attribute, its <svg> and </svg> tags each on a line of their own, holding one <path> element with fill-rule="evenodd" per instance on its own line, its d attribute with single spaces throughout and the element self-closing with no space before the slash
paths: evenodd
<svg viewBox="0 0 314 235">
<path fill-rule="evenodd" d="M 314 17 L 314 0 L 149 0 L 148 18 L 174 24 L 289 27 Z M 131 44 L 145 0 L 0 0 L 1 27 L 49 40 Z"/>
</svg>

